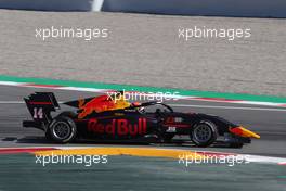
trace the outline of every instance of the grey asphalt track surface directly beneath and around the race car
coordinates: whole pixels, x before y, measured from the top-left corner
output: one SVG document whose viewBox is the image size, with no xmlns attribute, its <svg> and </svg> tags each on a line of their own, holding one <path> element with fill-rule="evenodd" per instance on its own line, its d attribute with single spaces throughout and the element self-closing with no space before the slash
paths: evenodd
<svg viewBox="0 0 286 191">
<path fill-rule="evenodd" d="M 35 88 L 21 88 L 0 86 L 0 147 L 51 147 L 57 145 L 48 142 L 43 138 L 43 132 L 37 129 L 27 129 L 22 127 L 22 120 L 30 118 L 28 111 L 23 102 L 23 98 L 35 91 L 53 91 L 58 101 L 77 100 L 80 97 L 92 97 L 96 93 L 48 90 Z M 251 144 L 243 149 L 230 149 L 223 145 L 213 145 L 211 148 L 196 148 L 192 143 L 183 144 L 151 144 L 155 148 L 177 148 L 186 150 L 207 150 L 219 152 L 245 153 L 266 156 L 286 157 L 286 110 L 277 107 L 214 103 L 203 101 L 168 101 L 176 111 L 180 112 L 202 112 L 222 116 L 231 122 L 242 124 L 261 136 L 260 140 L 253 140 Z M 63 106 L 63 110 L 68 109 Z M 180 139 L 180 138 L 178 138 Z M 64 147 L 86 147 L 86 145 L 118 145 L 106 142 L 86 142 L 80 141 Z M 121 143 L 122 144 L 122 143 Z M 123 147 L 133 147 L 134 144 L 122 144 Z M 142 145 L 136 145 L 142 147 Z M 144 145 L 146 147 L 146 145 Z"/>
</svg>

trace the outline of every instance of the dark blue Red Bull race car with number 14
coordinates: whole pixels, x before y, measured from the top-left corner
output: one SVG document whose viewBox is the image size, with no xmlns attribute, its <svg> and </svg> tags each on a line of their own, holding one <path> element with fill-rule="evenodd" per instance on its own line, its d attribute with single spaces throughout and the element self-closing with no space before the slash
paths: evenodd
<svg viewBox="0 0 286 191">
<path fill-rule="evenodd" d="M 24 127 L 34 127 L 58 143 L 75 139 L 92 140 L 156 140 L 168 142 L 177 135 L 188 136 L 198 147 L 208 147 L 223 138 L 231 147 L 240 148 L 260 136 L 219 116 L 202 113 L 174 112 L 161 102 L 129 103 L 114 97 L 100 96 L 63 103 L 77 107 L 53 116 L 60 105 L 51 92 L 37 92 L 24 99 L 32 120 Z M 150 139 L 150 138 L 154 139 Z"/>
</svg>

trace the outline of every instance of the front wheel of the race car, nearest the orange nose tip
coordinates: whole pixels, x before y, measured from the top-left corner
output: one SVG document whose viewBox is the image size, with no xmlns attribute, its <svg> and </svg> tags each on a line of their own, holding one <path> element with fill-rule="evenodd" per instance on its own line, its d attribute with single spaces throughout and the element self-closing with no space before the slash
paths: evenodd
<svg viewBox="0 0 286 191">
<path fill-rule="evenodd" d="M 204 120 L 195 125 L 190 137 L 197 147 L 209 147 L 217 140 L 217 126 Z"/>
</svg>

